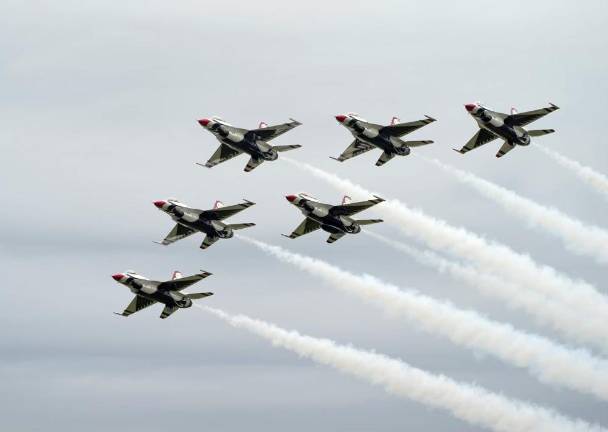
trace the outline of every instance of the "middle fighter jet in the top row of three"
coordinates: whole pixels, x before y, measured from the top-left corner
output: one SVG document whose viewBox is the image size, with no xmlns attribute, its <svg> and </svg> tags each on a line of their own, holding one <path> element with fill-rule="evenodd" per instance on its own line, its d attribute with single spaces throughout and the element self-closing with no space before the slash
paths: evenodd
<svg viewBox="0 0 608 432">
<path fill-rule="evenodd" d="M 350 131 L 355 140 L 339 157 L 330 157 L 339 162 L 344 162 L 374 148 L 379 148 L 382 150 L 382 155 L 376 162 L 376 166 L 382 166 L 395 156 L 407 156 L 410 154 L 411 147 L 419 147 L 433 142 L 430 140 L 403 141 L 401 139 L 404 135 L 435 121 L 434 118 L 425 117 L 423 120 L 409 123 L 400 123 L 397 117 L 393 117 L 390 125 L 382 126 L 363 120 L 355 113 L 337 115 L 336 120 Z"/>
</svg>

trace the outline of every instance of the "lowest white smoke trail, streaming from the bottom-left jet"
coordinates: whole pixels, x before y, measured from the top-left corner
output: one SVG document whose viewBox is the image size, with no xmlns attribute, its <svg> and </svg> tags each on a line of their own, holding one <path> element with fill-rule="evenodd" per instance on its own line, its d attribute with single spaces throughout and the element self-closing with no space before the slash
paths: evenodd
<svg viewBox="0 0 608 432">
<path fill-rule="evenodd" d="M 209 307 L 206 311 L 236 328 L 245 329 L 274 346 L 331 366 L 397 396 L 441 408 L 470 424 L 496 432 L 601 432 L 599 425 L 570 419 L 551 409 L 492 393 L 482 387 L 433 375 L 407 363 L 374 352 L 338 345 L 287 331 L 245 315 L 228 315 Z"/>
</svg>

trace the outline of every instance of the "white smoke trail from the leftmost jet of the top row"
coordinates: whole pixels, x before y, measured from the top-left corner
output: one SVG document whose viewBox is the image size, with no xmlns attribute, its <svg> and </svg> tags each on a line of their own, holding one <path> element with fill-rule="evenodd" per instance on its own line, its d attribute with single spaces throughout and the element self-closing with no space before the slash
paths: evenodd
<svg viewBox="0 0 608 432">
<path fill-rule="evenodd" d="M 283 160 L 351 196 L 369 198 L 372 195 L 372 192 L 335 174 L 291 158 L 284 157 Z M 608 299 L 587 282 L 572 280 L 549 266 L 537 264 L 528 255 L 489 242 L 464 228 L 453 227 L 421 210 L 410 209 L 398 200 L 380 204 L 377 211 L 386 215 L 385 222 L 392 223 L 405 235 L 424 242 L 431 249 L 466 259 L 483 271 L 519 285 L 520 289 L 535 290 L 544 295 L 547 301 L 572 308 L 580 314 L 582 319 L 579 326 L 586 328 L 587 332 L 606 325 Z M 608 344 L 605 338 L 600 342 Z M 605 349 L 608 350 L 608 345 Z"/>
</svg>

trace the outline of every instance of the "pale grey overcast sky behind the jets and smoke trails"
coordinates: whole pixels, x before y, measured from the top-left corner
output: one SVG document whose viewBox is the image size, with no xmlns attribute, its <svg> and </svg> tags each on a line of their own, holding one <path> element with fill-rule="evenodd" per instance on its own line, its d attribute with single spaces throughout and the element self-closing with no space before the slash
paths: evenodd
<svg viewBox="0 0 608 432">
<path fill-rule="evenodd" d="M 503 242 L 604 290 L 605 267 L 566 252 L 495 203 L 416 157 L 382 168 L 371 152 L 344 164 L 352 141 L 334 116 L 436 123 L 415 152 L 606 225 L 608 203 L 534 148 L 497 160 L 491 143 L 461 156 L 475 132 L 463 104 L 562 109 L 537 125 L 546 146 L 608 172 L 608 6 L 587 1 L 17 1 L 0 2 L 0 417 L 13 431 L 476 430 L 233 329 L 195 308 L 121 319 L 132 294 L 110 275 L 214 275 L 196 288 L 214 307 L 356 347 L 608 425 L 605 404 L 542 385 L 525 371 L 455 347 L 263 255 L 238 239 L 201 251 L 152 201 L 198 208 L 257 203 L 235 222 L 253 237 L 367 271 L 517 328 L 558 335 L 405 255 L 360 235 L 290 241 L 301 214 L 284 199 L 340 194 L 284 161 L 252 173 L 196 119 L 244 128 L 289 117 L 276 144 L 290 156 Z M 274 142 L 273 142 L 274 143 Z M 373 154 L 372 154 L 373 153 Z M 365 213 L 373 218 L 374 209 Z M 367 229 L 398 236 L 389 224 Z M 404 239 L 407 241 L 407 239 Z M 420 246 L 420 245 L 416 245 Z M 604 290 L 605 291 L 605 290 Z M 581 317 L 584 319 L 584 317 Z"/>
</svg>

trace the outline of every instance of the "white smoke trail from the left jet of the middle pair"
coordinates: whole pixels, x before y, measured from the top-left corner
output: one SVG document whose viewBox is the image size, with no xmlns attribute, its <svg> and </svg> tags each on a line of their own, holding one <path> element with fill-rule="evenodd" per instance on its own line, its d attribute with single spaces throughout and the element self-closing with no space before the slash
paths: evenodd
<svg viewBox="0 0 608 432">
<path fill-rule="evenodd" d="M 282 262 L 292 264 L 334 287 L 357 294 L 385 311 L 405 316 L 433 334 L 453 343 L 492 354 L 517 367 L 527 368 L 545 383 L 562 385 L 608 400 L 608 362 L 587 351 L 568 349 L 511 325 L 486 319 L 414 291 L 401 291 L 369 275 L 357 276 L 324 261 L 289 252 L 251 238 L 239 238 Z"/>
</svg>

